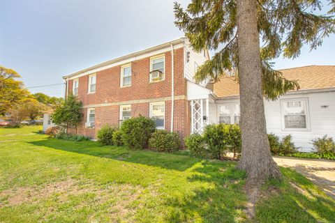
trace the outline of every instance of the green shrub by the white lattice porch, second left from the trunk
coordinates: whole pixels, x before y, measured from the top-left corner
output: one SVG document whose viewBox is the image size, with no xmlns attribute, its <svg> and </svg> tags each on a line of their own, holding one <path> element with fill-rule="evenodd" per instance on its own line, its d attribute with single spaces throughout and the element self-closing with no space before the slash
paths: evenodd
<svg viewBox="0 0 335 223">
<path fill-rule="evenodd" d="M 207 125 L 204 128 L 204 141 L 212 158 L 221 160 L 223 151 L 227 149 L 223 123 Z"/>
</svg>

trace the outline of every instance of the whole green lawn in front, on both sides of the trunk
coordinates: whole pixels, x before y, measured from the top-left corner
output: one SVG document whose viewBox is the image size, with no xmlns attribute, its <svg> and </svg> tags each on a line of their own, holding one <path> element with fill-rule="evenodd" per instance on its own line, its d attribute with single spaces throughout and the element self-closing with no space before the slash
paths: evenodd
<svg viewBox="0 0 335 223">
<path fill-rule="evenodd" d="M 249 222 L 234 162 L 49 139 L 39 128 L 0 128 L 0 222 Z M 334 222 L 334 200 L 282 171 L 262 189 L 258 222 Z"/>
</svg>

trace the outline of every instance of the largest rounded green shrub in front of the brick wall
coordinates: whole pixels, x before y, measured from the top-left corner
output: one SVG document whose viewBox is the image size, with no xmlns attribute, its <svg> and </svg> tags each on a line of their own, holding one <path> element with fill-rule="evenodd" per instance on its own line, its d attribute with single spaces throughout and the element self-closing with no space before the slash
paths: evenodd
<svg viewBox="0 0 335 223">
<path fill-rule="evenodd" d="M 151 118 L 139 116 L 123 121 L 120 130 L 126 146 L 131 149 L 144 149 L 148 148 L 149 139 L 156 128 Z"/>
</svg>

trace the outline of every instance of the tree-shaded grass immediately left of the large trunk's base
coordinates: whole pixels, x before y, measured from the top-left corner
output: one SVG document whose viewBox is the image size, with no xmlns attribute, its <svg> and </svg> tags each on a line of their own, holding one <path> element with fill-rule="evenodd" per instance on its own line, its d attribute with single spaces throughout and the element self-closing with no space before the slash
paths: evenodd
<svg viewBox="0 0 335 223">
<path fill-rule="evenodd" d="M 188 182 L 206 183 L 209 187 L 166 199 L 165 205 L 173 211 L 164 222 L 246 222 L 246 175 L 234 167 L 234 162 L 202 161 Z"/>
</svg>

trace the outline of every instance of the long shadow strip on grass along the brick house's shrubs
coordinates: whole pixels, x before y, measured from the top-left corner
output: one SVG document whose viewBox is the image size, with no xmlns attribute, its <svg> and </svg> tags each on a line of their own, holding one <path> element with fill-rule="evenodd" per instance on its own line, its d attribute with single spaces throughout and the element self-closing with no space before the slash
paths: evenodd
<svg viewBox="0 0 335 223">
<path fill-rule="evenodd" d="M 149 166 L 174 169 L 178 171 L 184 171 L 193 167 L 195 163 L 200 162 L 200 159 L 184 155 L 157 153 L 154 151 L 131 151 L 126 147 L 101 146 L 95 141 L 64 141 L 59 139 L 45 139 L 41 141 L 30 141 L 29 143 L 61 151 L 94 155 L 96 157 L 105 157 L 113 160 L 146 164 Z"/>
</svg>

